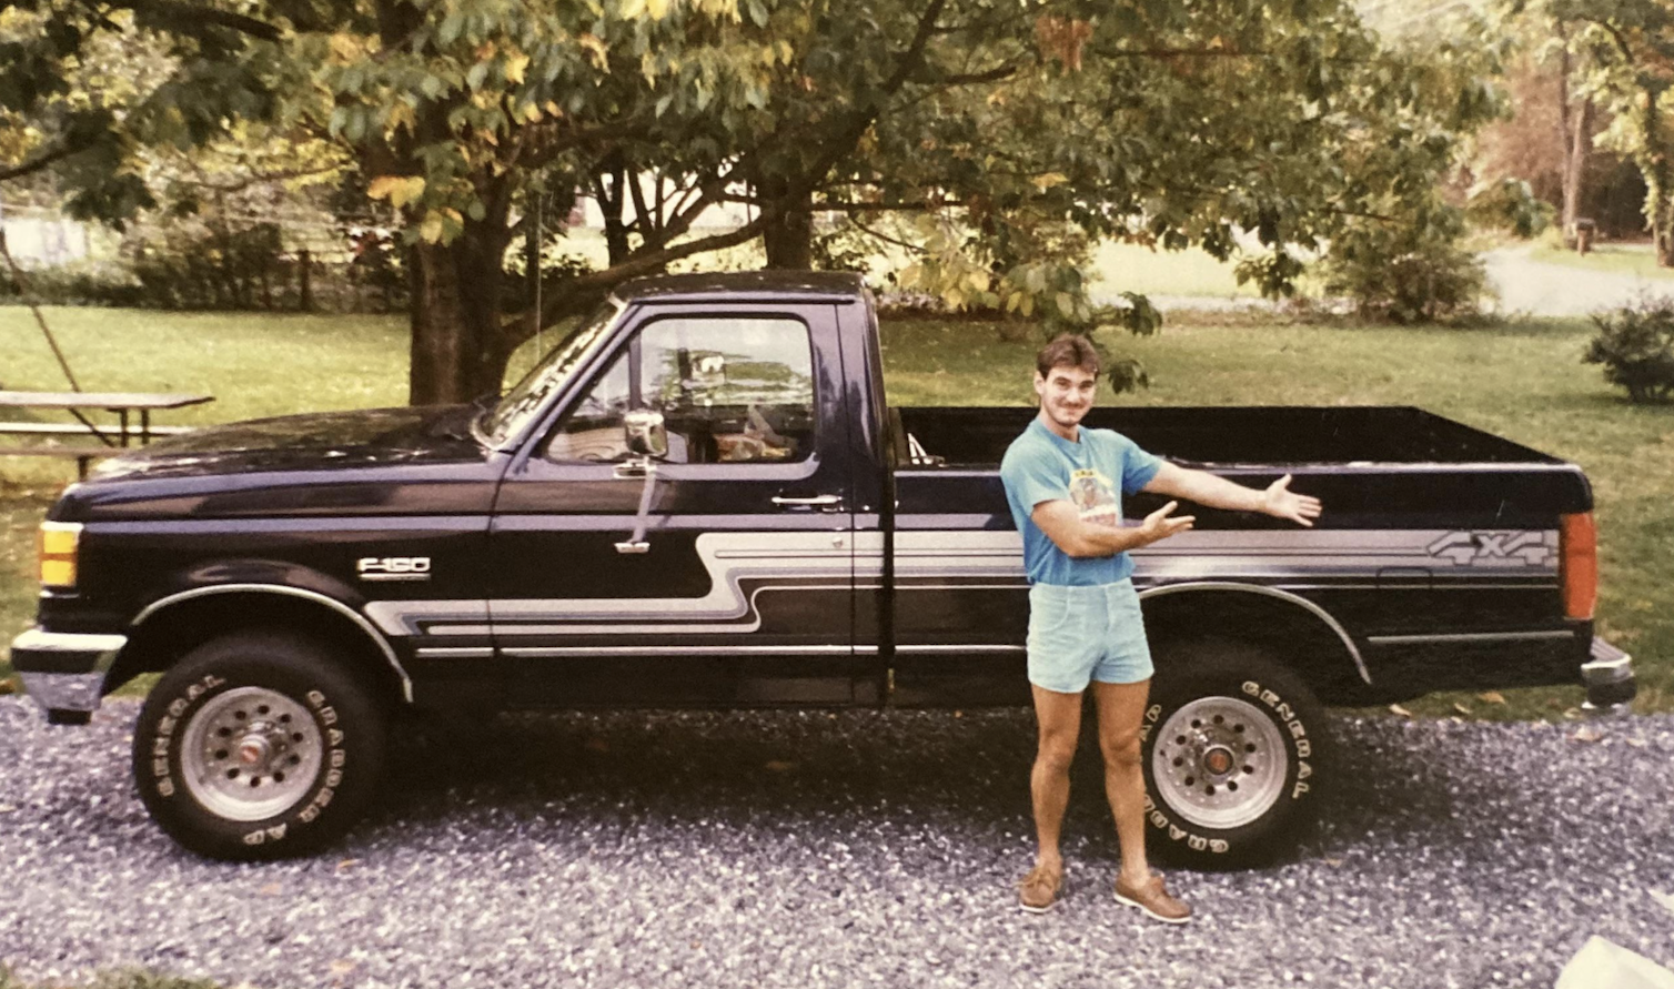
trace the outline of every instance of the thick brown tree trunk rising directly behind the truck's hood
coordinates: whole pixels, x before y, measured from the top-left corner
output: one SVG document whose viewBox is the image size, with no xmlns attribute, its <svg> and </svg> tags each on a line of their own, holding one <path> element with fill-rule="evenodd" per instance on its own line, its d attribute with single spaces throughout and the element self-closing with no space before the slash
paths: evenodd
<svg viewBox="0 0 1674 989">
<path fill-rule="evenodd" d="M 412 249 L 412 405 L 497 393 L 511 348 L 501 333 L 506 244 L 467 226 L 452 244 Z"/>
</svg>

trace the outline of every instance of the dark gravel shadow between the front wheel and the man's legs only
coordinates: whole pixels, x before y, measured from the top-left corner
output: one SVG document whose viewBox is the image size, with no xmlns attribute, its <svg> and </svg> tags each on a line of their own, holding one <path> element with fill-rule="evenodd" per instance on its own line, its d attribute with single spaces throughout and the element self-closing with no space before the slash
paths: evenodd
<svg viewBox="0 0 1674 989">
<path fill-rule="evenodd" d="M 378 818 L 442 820 L 460 800 L 720 822 L 887 803 L 1009 825 L 1033 738 L 1024 711 L 504 715 L 398 745 Z"/>
</svg>

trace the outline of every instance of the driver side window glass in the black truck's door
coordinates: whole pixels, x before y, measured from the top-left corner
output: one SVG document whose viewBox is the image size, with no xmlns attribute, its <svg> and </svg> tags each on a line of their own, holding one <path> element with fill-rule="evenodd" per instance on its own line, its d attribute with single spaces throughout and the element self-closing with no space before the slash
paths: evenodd
<svg viewBox="0 0 1674 989">
<path fill-rule="evenodd" d="M 814 450 L 814 351 L 788 318 L 648 323 L 547 438 L 557 462 L 629 455 L 629 410 L 663 413 L 670 464 L 804 460 Z"/>
</svg>

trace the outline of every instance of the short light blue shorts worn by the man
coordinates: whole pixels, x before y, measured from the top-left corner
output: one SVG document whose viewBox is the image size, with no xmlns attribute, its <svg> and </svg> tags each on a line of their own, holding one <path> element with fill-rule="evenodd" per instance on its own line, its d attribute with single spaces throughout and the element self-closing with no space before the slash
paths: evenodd
<svg viewBox="0 0 1674 989">
<path fill-rule="evenodd" d="M 1030 587 L 1030 683 L 1078 694 L 1088 681 L 1150 679 L 1150 643 L 1133 581 Z"/>
</svg>

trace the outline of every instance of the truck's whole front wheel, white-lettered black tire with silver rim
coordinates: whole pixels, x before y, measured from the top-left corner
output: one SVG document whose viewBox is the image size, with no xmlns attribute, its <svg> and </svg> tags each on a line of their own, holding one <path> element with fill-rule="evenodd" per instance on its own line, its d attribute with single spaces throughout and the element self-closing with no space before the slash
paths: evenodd
<svg viewBox="0 0 1674 989">
<path fill-rule="evenodd" d="M 321 643 L 236 633 L 198 646 L 151 689 L 134 780 L 152 820 L 191 852 L 300 855 L 365 810 L 383 773 L 385 721 L 375 693 Z"/>
</svg>

